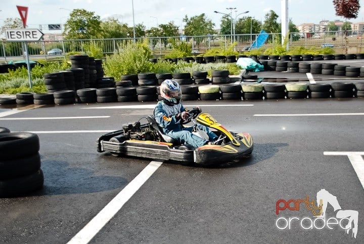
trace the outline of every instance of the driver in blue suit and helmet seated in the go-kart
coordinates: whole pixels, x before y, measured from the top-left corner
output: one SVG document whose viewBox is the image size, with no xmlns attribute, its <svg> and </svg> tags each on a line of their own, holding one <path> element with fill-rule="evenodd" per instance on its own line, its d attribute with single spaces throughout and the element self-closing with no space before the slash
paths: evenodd
<svg viewBox="0 0 364 244">
<path fill-rule="evenodd" d="M 197 125 L 209 136 L 205 140 L 192 133 L 193 127 L 184 127 L 181 123 L 188 120 L 190 114 L 180 102 L 181 90 L 179 84 L 174 80 L 164 80 L 160 86 L 160 95 L 163 101 L 159 101 L 154 109 L 154 117 L 166 135 L 178 140 L 180 143 L 190 144 L 195 148 L 205 144 L 213 144 L 217 135 L 203 125 Z M 199 113 L 201 109 L 197 107 Z"/>
</svg>

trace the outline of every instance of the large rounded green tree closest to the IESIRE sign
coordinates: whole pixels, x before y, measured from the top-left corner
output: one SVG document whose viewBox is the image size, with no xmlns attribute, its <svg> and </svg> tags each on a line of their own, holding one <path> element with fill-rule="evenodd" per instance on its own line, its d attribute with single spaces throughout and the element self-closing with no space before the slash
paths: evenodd
<svg viewBox="0 0 364 244">
<path fill-rule="evenodd" d="M 64 25 L 63 33 L 67 39 L 93 39 L 101 37 L 101 32 L 100 16 L 84 9 L 74 9 Z"/>
</svg>

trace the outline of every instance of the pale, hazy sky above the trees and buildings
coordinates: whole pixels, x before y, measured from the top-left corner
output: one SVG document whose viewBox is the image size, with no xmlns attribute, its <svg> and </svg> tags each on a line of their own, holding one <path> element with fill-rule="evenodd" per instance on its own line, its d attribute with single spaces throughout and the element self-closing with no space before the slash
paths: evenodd
<svg viewBox="0 0 364 244">
<path fill-rule="evenodd" d="M 332 0 L 289 0 L 288 3 L 288 16 L 296 25 L 343 20 L 335 15 Z M 359 3 L 358 18 L 348 21 L 364 22 L 364 0 Z M 134 10 L 135 25 L 143 23 L 147 29 L 169 21 L 183 26 L 182 20 L 186 15 L 191 18 L 203 13 L 219 29 L 223 15 L 214 11 L 230 14 L 231 11 L 226 8 L 236 8 L 232 12 L 233 18 L 249 11 L 239 15 L 238 19 L 251 16 L 264 21 L 265 14 L 270 10 L 281 16 L 281 0 L 0 0 L 0 26 L 6 18 L 20 18 L 17 5 L 28 7 L 27 28 L 38 29 L 42 25 L 44 33 L 52 33 L 47 30 L 49 24 L 64 24 L 73 9 L 94 12 L 101 20 L 114 17 L 128 26 L 133 25 Z"/>
</svg>

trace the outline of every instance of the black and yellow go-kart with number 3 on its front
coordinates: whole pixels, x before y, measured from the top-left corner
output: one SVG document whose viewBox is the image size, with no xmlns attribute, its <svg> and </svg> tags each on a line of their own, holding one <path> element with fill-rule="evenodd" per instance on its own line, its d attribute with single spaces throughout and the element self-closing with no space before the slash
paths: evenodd
<svg viewBox="0 0 364 244">
<path fill-rule="evenodd" d="M 189 111 L 190 117 L 183 124 L 192 122 L 193 133 L 208 138 L 197 124 L 208 126 L 217 136 L 213 144 L 194 148 L 181 144 L 164 134 L 153 115 L 143 117 L 134 123 L 124 124 L 122 130 L 109 132 L 97 140 L 97 151 L 110 152 L 113 156 L 136 156 L 150 159 L 193 162 L 199 165 L 217 165 L 233 162 L 250 156 L 253 139 L 249 133 L 234 133 L 226 130 L 210 114 L 200 109 Z M 140 121 L 146 119 L 147 123 Z M 206 137 L 207 136 L 207 137 Z"/>
</svg>

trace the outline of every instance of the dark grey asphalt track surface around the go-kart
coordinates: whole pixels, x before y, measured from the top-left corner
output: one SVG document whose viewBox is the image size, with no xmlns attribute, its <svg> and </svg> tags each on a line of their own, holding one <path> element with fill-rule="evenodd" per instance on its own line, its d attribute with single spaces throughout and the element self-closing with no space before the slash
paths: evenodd
<svg viewBox="0 0 364 244">
<path fill-rule="evenodd" d="M 43 189 L 29 196 L 0 199 L 0 242 L 86 243 L 85 235 L 75 236 L 111 206 L 104 215 L 115 212 L 111 219 L 98 219 L 100 230 L 86 233 L 90 243 L 362 243 L 363 99 L 184 102 L 253 136 L 252 157 L 230 165 L 151 164 L 96 152 L 99 136 L 151 114 L 154 105 L 0 107 L 1 126 L 39 135 L 45 177 Z M 342 210 L 358 211 L 356 238 L 338 225 L 305 230 L 307 219 L 303 227 L 298 220 L 290 229 L 276 226 L 281 217 L 313 221 L 304 204 L 279 215 L 276 204 L 306 196 L 316 201 L 321 189 Z M 327 207 L 326 220 L 335 210 Z"/>
</svg>

